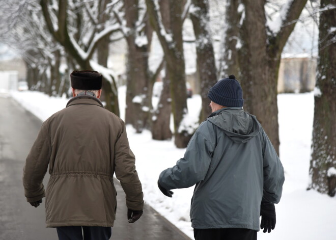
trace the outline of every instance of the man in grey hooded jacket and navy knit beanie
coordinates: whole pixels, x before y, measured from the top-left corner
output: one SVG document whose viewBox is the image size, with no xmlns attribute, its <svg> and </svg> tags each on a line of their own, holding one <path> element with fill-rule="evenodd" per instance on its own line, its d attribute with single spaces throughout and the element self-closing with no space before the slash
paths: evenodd
<svg viewBox="0 0 336 240">
<path fill-rule="evenodd" d="M 164 170 L 161 192 L 195 185 L 190 218 L 195 239 L 257 239 L 275 227 L 283 166 L 255 116 L 243 111 L 234 75 L 210 88 L 212 114 L 191 138 L 184 157 Z"/>
</svg>

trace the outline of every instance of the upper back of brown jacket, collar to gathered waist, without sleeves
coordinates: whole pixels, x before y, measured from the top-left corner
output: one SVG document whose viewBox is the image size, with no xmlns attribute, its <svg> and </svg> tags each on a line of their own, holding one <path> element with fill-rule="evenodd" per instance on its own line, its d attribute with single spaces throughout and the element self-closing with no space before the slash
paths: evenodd
<svg viewBox="0 0 336 240">
<path fill-rule="evenodd" d="M 120 118 L 104 110 L 94 99 L 77 98 L 45 124 L 52 146 L 50 173 L 110 175 L 114 145 L 122 131 Z"/>
</svg>

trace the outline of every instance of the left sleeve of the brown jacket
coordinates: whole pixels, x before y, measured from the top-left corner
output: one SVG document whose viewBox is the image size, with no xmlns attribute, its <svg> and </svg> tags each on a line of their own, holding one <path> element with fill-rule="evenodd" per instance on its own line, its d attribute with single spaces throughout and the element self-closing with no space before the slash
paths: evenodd
<svg viewBox="0 0 336 240">
<path fill-rule="evenodd" d="M 45 197 L 43 178 L 48 170 L 51 155 L 50 139 L 45 122 L 25 160 L 23 167 L 24 196 L 27 202 L 36 202 Z"/>
</svg>

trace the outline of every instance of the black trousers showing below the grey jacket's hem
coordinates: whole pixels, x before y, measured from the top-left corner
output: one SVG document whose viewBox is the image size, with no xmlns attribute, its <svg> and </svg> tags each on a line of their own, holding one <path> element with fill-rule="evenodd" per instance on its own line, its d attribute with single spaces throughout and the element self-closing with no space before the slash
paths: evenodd
<svg viewBox="0 0 336 240">
<path fill-rule="evenodd" d="M 257 231 L 245 228 L 193 229 L 195 240 L 257 240 Z"/>
</svg>

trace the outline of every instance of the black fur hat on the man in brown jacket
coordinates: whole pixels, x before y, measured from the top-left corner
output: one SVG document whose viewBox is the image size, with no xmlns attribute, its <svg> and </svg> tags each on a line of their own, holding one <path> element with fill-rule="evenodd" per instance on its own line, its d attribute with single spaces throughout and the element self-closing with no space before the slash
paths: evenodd
<svg viewBox="0 0 336 240">
<path fill-rule="evenodd" d="M 103 76 L 92 70 L 74 70 L 70 74 L 71 87 L 80 90 L 99 90 L 101 89 Z"/>
</svg>

